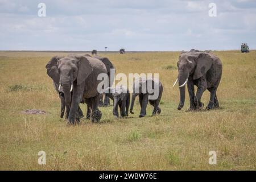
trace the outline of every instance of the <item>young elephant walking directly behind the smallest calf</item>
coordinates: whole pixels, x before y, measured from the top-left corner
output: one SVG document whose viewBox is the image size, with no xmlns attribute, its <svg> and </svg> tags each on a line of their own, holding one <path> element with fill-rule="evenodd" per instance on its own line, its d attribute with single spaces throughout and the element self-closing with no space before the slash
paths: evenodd
<svg viewBox="0 0 256 182">
<path fill-rule="evenodd" d="M 154 88 L 154 82 L 157 81 L 157 80 L 152 80 L 152 86 Z M 157 81 L 158 82 L 158 86 L 159 86 L 159 94 L 158 94 L 158 98 L 156 98 L 156 100 L 149 100 L 148 99 L 148 96 L 150 95 L 153 95 L 154 93 L 148 93 L 147 90 L 146 92 L 142 92 L 142 82 L 143 81 L 139 81 L 139 93 L 135 93 L 135 90 L 137 89 L 136 88 L 136 84 L 135 84 L 135 81 L 133 83 L 133 94 L 132 94 L 132 98 L 131 98 L 131 106 L 130 106 L 130 113 L 131 114 L 134 114 L 133 113 L 133 106 L 134 106 L 134 102 L 135 102 L 135 98 L 137 96 L 139 96 L 139 105 L 141 105 L 141 113 L 139 114 L 139 117 L 144 117 L 146 115 L 146 109 L 147 109 L 147 104 L 148 102 L 150 103 L 150 105 L 154 106 L 154 109 L 153 109 L 153 112 L 152 112 L 152 115 L 155 115 L 155 114 L 160 114 L 161 113 L 161 109 L 159 107 L 159 104 L 160 104 L 160 100 L 161 100 L 161 97 L 162 97 L 162 93 L 163 93 L 163 85 L 160 81 Z M 147 82 L 148 80 L 146 80 L 146 85 L 147 85 Z"/>
</svg>

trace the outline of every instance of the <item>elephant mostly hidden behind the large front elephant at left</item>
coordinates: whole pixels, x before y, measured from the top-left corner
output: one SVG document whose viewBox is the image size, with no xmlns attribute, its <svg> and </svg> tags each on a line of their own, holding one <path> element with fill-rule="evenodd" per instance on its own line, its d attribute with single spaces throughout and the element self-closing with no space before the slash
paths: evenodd
<svg viewBox="0 0 256 182">
<path fill-rule="evenodd" d="M 100 56 L 94 56 L 94 57 L 101 60 L 102 63 L 105 64 L 105 67 L 107 69 L 107 74 L 109 77 L 109 85 L 108 86 L 111 87 L 114 82 L 114 76 L 113 76 L 113 78 L 110 77 L 110 69 L 115 69 L 113 63 L 107 57 L 100 57 Z M 109 105 L 110 105 L 109 97 L 106 96 L 106 94 L 104 93 L 104 101 L 103 101 L 103 94 L 102 94 L 101 99 L 100 99 L 100 106 L 109 106 Z"/>
</svg>

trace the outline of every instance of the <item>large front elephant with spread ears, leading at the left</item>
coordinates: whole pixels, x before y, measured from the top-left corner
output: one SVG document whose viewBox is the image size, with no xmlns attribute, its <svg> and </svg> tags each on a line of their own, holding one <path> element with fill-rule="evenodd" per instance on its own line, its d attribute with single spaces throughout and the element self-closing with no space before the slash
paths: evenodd
<svg viewBox="0 0 256 182">
<path fill-rule="evenodd" d="M 46 68 L 48 76 L 63 87 L 70 124 L 75 124 L 75 121 L 80 122 L 77 119 L 80 102 L 89 106 L 93 122 L 100 121 L 102 114 L 98 110 L 98 102 L 101 94 L 98 93 L 97 86 L 101 81 L 97 80 L 97 76 L 106 73 L 106 67 L 100 60 L 75 54 L 66 57 L 55 56 L 48 62 Z"/>
</svg>

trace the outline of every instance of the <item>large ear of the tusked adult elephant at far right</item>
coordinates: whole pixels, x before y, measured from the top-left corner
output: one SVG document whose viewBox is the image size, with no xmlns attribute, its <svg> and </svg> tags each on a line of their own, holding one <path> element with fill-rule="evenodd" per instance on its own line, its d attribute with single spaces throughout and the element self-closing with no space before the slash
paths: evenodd
<svg viewBox="0 0 256 182">
<path fill-rule="evenodd" d="M 212 67 L 213 59 L 208 53 L 200 53 L 196 58 L 196 68 L 193 80 L 202 77 Z"/>
</svg>

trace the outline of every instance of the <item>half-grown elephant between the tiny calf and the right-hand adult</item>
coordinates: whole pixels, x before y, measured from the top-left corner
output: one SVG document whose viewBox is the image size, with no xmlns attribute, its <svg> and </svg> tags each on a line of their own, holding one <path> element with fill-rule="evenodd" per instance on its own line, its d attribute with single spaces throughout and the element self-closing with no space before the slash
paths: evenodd
<svg viewBox="0 0 256 182">
<path fill-rule="evenodd" d="M 148 82 L 152 83 L 152 89 L 155 90 L 154 85 L 158 86 L 158 96 L 156 99 L 152 100 L 150 99 L 150 96 L 152 96 L 155 92 L 149 93 L 147 89 Z M 139 117 L 144 117 L 146 115 L 146 109 L 148 102 L 150 105 L 154 106 L 154 110 L 152 112 L 152 115 L 160 114 L 161 109 L 159 107 L 160 100 L 163 93 L 163 85 L 159 80 L 156 80 L 155 78 L 152 79 L 145 79 L 145 80 L 139 80 L 139 83 L 137 81 L 134 81 L 133 83 L 133 94 L 131 98 L 131 107 L 130 107 L 130 113 L 133 113 L 133 106 L 135 102 L 135 97 L 139 96 L 139 105 L 141 105 L 141 113 L 139 114 Z M 144 86 L 143 86 L 144 85 Z M 139 88 L 138 88 L 139 87 Z M 137 91 L 136 91 L 137 90 Z"/>
</svg>

